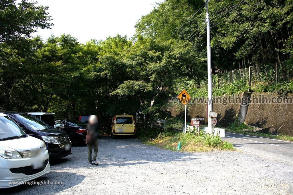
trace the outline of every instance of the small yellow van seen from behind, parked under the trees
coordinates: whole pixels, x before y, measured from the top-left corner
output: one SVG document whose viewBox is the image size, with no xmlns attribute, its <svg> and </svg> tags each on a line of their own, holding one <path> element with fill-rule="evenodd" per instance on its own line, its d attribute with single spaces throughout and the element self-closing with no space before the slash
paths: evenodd
<svg viewBox="0 0 293 195">
<path fill-rule="evenodd" d="M 132 115 L 115 115 L 112 120 L 111 136 L 115 139 L 117 135 L 135 135 L 136 127 Z"/>
</svg>

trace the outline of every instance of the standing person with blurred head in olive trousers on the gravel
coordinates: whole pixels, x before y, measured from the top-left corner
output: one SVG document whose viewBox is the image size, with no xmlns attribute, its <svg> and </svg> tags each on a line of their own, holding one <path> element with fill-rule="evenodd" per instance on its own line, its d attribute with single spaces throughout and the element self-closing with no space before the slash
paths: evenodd
<svg viewBox="0 0 293 195">
<path fill-rule="evenodd" d="M 86 144 L 88 144 L 88 163 L 90 165 L 98 165 L 98 116 L 91 115 L 88 119 L 88 125 L 86 126 Z M 93 158 L 92 158 L 93 152 Z"/>
</svg>

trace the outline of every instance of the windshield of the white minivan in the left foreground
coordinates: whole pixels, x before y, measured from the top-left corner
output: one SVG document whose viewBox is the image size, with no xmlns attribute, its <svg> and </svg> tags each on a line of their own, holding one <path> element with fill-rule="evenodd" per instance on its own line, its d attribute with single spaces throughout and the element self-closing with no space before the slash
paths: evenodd
<svg viewBox="0 0 293 195">
<path fill-rule="evenodd" d="M 0 116 L 0 141 L 24 137 L 26 134 L 21 130 L 11 118 Z"/>
</svg>

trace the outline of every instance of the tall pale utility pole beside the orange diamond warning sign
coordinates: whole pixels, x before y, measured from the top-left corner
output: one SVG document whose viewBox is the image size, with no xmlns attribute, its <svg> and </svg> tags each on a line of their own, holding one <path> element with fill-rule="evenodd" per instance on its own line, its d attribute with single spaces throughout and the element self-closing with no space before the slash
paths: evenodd
<svg viewBox="0 0 293 195">
<path fill-rule="evenodd" d="M 211 35 L 209 26 L 209 12 L 207 11 L 207 1 L 205 0 L 205 12 L 206 12 L 206 22 L 207 22 L 207 96 L 208 96 L 208 129 L 209 134 L 213 134 L 212 118 L 210 117 L 210 112 L 213 110 L 213 99 L 212 99 L 212 60 L 211 60 Z"/>
</svg>

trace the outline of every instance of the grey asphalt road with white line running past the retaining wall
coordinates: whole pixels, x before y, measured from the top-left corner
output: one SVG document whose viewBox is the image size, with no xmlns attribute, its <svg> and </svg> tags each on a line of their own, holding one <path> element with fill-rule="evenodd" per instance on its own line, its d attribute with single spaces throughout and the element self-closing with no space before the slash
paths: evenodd
<svg viewBox="0 0 293 195">
<path fill-rule="evenodd" d="M 293 142 L 225 132 L 222 138 L 236 149 L 293 165 Z"/>
</svg>

